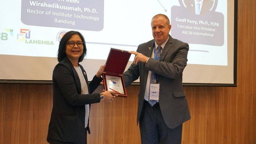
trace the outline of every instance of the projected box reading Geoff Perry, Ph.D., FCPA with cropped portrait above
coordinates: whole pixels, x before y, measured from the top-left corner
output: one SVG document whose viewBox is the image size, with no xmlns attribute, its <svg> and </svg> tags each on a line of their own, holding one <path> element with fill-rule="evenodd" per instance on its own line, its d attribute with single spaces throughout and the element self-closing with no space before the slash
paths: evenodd
<svg viewBox="0 0 256 144">
<path fill-rule="evenodd" d="M 218 0 L 179 2 L 171 9 L 172 36 L 189 44 L 224 45 L 224 15 L 216 11 Z"/>
</svg>

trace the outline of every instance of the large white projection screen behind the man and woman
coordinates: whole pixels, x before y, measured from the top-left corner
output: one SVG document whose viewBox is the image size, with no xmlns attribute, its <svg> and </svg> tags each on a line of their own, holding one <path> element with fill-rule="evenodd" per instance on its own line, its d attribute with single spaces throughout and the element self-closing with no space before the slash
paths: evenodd
<svg viewBox="0 0 256 144">
<path fill-rule="evenodd" d="M 184 85 L 236 86 L 237 0 L 203 0 L 200 14 L 195 7 L 195 0 L 2 0 L 0 83 L 51 83 L 70 30 L 85 37 L 81 64 L 92 80 L 110 48 L 136 51 L 152 40 L 150 22 L 161 13 L 172 38 L 190 47 Z"/>
</svg>

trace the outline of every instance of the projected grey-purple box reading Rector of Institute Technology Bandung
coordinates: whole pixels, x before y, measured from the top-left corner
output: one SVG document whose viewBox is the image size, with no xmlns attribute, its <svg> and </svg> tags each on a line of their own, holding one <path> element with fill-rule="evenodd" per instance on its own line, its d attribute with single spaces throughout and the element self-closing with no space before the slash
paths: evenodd
<svg viewBox="0 0 256 144">
<path fill-rule="evenodd" d="M 26 25 L 100 31 L 103 20 L 104 0 L 22 0 Z"/>
</svg>

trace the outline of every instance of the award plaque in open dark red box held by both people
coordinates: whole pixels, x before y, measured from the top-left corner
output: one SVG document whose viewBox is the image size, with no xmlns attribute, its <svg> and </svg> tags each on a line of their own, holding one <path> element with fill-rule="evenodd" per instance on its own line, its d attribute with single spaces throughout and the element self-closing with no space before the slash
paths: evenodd
<svg viewBox="0 0 256 144">
<path fill-rule="evenodd" d="M 125 50 L 111 48 L 103 76 L 104 89 L 114 91 L 114 96 L 127 97 L 123 73 L 131 54 Z"/>
</svg>

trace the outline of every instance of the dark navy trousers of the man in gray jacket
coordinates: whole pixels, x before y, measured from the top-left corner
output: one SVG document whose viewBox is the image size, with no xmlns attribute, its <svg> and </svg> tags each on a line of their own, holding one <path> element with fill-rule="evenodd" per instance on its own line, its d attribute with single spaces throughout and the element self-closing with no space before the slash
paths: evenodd
<svg viewBox="0 0 256 144">
<path fill-rule="evenodd" d="M 165 124 L 159 103 L 153 107 L 144 100 L 140 117 L 140 137 L 142 144 L 181 144 L 182 124 L 168 128 Z"/>
</svg>

